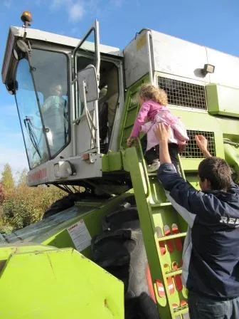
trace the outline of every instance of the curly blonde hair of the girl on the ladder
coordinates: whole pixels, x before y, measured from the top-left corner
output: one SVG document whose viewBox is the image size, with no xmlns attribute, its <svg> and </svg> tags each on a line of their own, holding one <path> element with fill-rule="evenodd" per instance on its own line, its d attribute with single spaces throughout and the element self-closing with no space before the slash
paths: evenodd
<svg viewBox="0 0 239 319">
<path fill-rule="evenodd" d="M 161 88 L 156 88 L 156 86 L 151 84 L 143 84 L 141 88 L 139 88 L 139 96 L 143 100 L 154 100 L 161 105 L 168 104 L 166 92 Z"/>
</svg>

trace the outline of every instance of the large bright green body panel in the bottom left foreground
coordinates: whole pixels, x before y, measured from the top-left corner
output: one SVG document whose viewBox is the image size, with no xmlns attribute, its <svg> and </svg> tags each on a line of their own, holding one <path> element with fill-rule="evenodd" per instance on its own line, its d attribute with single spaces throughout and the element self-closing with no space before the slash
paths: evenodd
<svg viewBox="0 0 239 319">
<path fill-rule="evenodd" d="M 5 258 L 1 318 L 124 318 L 122 282 L 78 251 L 19 246 Z"/>
</svg>

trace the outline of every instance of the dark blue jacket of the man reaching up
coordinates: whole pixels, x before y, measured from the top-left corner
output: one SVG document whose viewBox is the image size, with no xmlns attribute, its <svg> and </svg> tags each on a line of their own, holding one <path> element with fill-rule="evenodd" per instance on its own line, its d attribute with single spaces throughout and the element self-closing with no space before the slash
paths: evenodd
<svg viewBox="0 0 239 319">
<path fill-rule="evenodd" d="M 188 223 L 183 282 L 188 291 L 223 300 L 239 296 L 239 189 L 198 192 L 172 164 L 158 177 L 176 211 Z"/>
</svg>

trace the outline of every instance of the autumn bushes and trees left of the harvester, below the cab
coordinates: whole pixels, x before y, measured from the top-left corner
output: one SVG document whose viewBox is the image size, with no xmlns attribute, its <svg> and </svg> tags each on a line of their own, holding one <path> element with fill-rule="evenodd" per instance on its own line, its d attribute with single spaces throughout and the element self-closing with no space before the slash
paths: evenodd
<svg viewBox="0 0 239 319">
<path fill-rule="evenodd" d="M 9 164 L 1 173 L 4 197 L 0 202 L 0 233 L 9 233 L 40 220 L 44 211 L 56 200 L 65 196 L 57 187 L 28 187 L 27 170 L 18 172 L 16 183 Z"/>
</svg>

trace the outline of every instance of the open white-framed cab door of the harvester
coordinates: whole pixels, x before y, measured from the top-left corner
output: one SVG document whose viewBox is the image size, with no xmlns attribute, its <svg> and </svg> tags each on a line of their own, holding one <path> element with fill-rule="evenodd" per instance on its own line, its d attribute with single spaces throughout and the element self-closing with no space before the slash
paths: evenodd
<svg viewBox="0 0 239 319">
<path fill-rule="evenodd" d="M 74 97 L 73 110 L 73 156 L 91 154 L 97 160 L 100 158 L 100 137 L 98 121 L 98 100 L 95 98 L 86 98 L 92 89 L 90 78 L 87 78 L 87 72 L 84 69 L 94 66 L 97 81 L 97 94 L 100 80 L 100 36 L 99 23 L 95 21 L 87 31 L 83 39 L 73 51 L 73 82 L 72 90 Z M 89 57 L 83 61 L 82 53 Z M 90 62 L 90 63 L 89 63 Z M 89 63 L 85 65 L 85 63 Z M 83 78 L 80 76 L 84 73 Z M 85 77 L 84 77 L 85 76 Z M 79 78 L 83 80 L 78 80 Z M 94 90 L 94 89 L 93 89 Z M 90 94 L 88 94 L 90 95 Z M 99 165 L 97 165 L 99 167 Z M 101 167 L 99 167 L 101 169 Z M 92 169 L 92 167 L 90 168 Z M 95 167 L 96 169 L 96 167 Z M 95 176 L 99 176 L 95 172 Z"/>
</svg>

